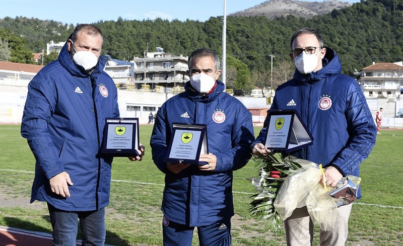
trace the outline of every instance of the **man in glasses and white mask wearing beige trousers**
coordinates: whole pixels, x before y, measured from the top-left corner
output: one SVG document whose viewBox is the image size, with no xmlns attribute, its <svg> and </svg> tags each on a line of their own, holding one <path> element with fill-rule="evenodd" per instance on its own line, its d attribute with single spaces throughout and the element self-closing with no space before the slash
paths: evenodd
<svg viewBox="0 0 403 246">
<path fill-rule="evenodd" d="M 375 144 L 376 127 L 357 81 L 341 73 L 337 54 L 323 46 L 318 31 L 304 28 L 291 38 L 293 79 L 279 86 L 270 110 L 294 109 L 314 140 L 313 145 L 291 152 L 325 168 L 326 185 L 347 175 L 360 176 L 360 163 Z M 269 111 L 270 111 L 269 110 Z M 264 136 L 268 121 L 252 143 L 252 154 L 266 154 Z M 321 180 L 320 183 L 323 181 Z M 358 198 L 361 191 L 358 191 Z M 320 231 L 320 245 L 345 245 L 352 204 L 338 208 L 331 231 Z M 312 245 L 313 224 L 306 207 L 285 220 L 287 245 Z"/>
</svg>

